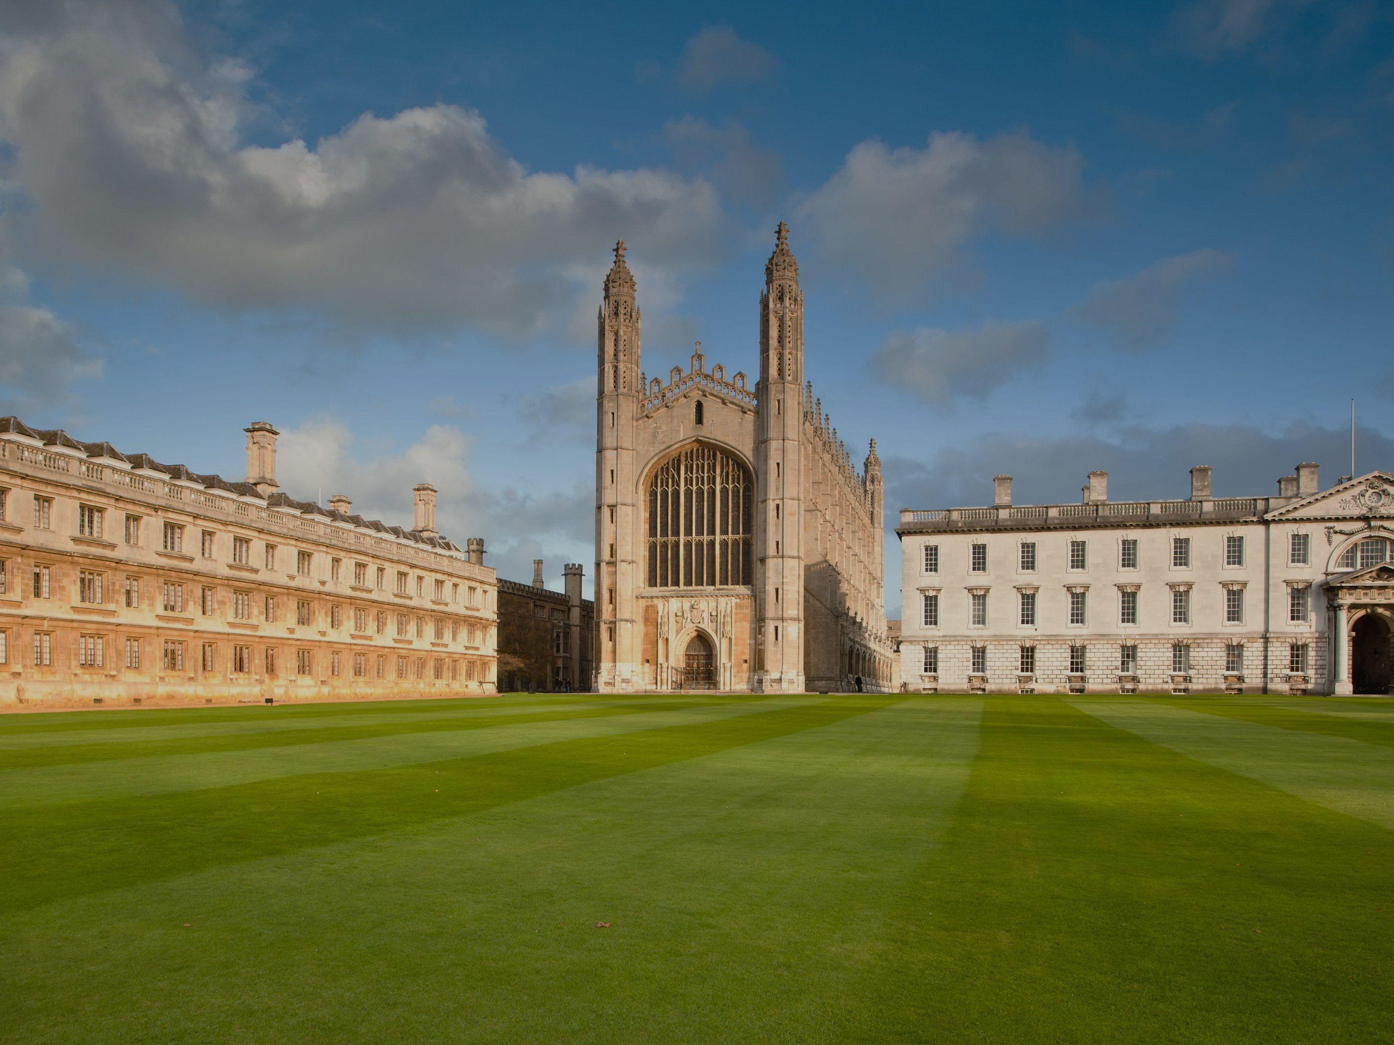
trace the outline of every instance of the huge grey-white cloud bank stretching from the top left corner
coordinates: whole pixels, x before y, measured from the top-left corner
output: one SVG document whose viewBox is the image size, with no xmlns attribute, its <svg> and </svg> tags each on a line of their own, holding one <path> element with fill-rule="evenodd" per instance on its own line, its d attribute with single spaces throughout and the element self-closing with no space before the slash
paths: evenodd
<svg viewBox="0 0 1394 1045">
<path fill-rule="evenodd" d="M 721 240 L 707 181 L 531 171 L 459 106 L 248 144 L 248 70 L 201 56 L 170 4 L 71 0 L 53 17 L 11 13 L 8 28 L 0 137 L 36 231 L 195 301 L 527 334 L 594 297 L 576 274 L 619 237 L 640 280 L 664 284 Z"/>
</svg>

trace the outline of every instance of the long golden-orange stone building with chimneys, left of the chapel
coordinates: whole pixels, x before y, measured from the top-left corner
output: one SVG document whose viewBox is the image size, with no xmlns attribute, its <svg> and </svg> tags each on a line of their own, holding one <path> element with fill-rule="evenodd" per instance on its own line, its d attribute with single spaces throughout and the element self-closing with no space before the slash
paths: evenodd
<svg viewBox="0 0 1394 1045">
<path fill-rule="evenodd" d="M 276 436 L 229 482 L 0 418 L 0 704 L 457 697 L 493 691 L 484 541 L 291 500 Z"/>
</svg>

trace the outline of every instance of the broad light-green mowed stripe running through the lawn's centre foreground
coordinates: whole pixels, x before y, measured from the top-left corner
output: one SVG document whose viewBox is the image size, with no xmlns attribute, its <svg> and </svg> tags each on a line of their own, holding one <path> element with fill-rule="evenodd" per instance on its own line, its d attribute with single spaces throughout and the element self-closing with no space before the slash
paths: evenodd
<svg viewBox="0 0 1394 1045">
<path fill-rule="evenodd" d="M 976 701 L 882 705 L 52 904 L 0 998 L 26 1042 L 846 1041 L 977 738 Z"/>
</svg>

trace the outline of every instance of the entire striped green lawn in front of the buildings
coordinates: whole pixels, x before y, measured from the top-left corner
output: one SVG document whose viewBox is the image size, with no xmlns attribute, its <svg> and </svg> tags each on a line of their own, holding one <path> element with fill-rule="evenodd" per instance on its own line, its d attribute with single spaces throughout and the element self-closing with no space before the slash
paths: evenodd
<svg viewBox="0 0 1394 1045">
<path fill-rule="evenodd" d="M 0 1041 L 1394 1041 L 1394 701 L 3 716 Z"/>
</svg>

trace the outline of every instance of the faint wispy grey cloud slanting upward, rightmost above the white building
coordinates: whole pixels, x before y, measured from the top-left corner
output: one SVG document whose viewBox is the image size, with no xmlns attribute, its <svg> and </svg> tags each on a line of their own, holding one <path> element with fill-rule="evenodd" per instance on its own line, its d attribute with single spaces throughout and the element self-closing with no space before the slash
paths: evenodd
<svg viewBox="0 0 1394 1045">
<path fill-rule="evenodd" d="M 1076 315 L 1111 333 L 1122 348 L 1154 348 L 1177 332 L 1185 284 L 1206 272 L 1228 269 L 1234 262 L 1234 254 L 1216 249 L 1163 258 L 1125 279 L 1096 283 Z"/>
</svg>

